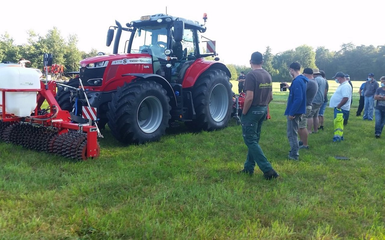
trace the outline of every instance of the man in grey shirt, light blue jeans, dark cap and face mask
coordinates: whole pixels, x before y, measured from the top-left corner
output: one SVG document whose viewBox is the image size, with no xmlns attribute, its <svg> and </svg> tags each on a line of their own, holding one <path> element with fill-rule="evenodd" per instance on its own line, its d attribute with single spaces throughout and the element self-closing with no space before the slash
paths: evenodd
<svg viewBox="0 0 385 240">
<path fill-rule="evenodd" d="M 377 91 L 379 84 L 374 79 L 374 74 L 368 74 L 368 81 L 365 83 L 363 90 L 365 91 L 365 105 L 363 111 L 363 120 L 373 121 L 374 111 L 374 94 Z"/>
</svg>

